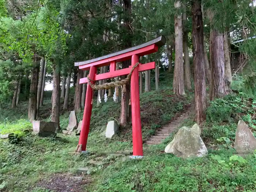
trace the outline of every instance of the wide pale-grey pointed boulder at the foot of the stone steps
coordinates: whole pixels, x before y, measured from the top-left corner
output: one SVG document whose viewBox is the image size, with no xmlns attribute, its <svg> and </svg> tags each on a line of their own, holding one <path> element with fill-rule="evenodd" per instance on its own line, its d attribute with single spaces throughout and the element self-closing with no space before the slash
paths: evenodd
<svg viewBox="0 0 256 192">
<path fill-rule="evenodd" d="M 165 147 L 165 153 L 172 153 L 177 157 L 203 157 L 208 150 L 200 137 L 201 130 L 197 124 L 190 129 L 182 127 L 178 130 L 172 142 Z"/>
</svg>

